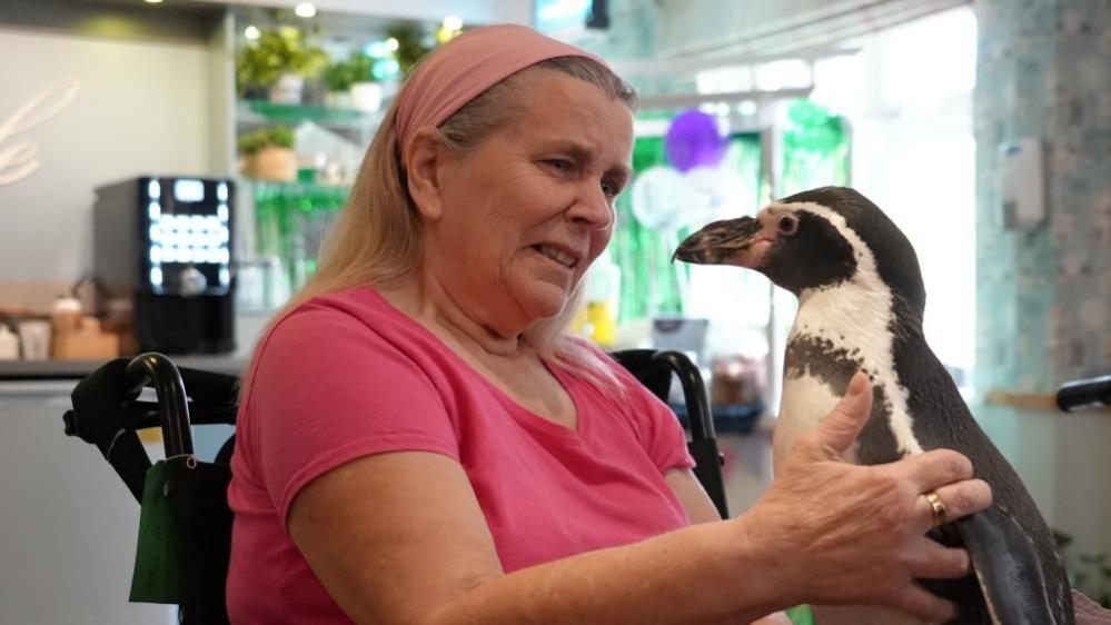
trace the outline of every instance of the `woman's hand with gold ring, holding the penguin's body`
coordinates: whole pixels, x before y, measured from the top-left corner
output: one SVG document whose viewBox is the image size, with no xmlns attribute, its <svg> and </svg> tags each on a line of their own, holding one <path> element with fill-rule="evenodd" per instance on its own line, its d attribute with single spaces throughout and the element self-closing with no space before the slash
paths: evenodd
<svg viewBox="0 0 1111 625">
<path fill-rule="evenodd" d="M 768 572 L 776 583 L 806 603 L 884 605 L 931 623 L 950 621 L 955 606 L 914 579 L 968 575 L 969 556 L 925 537 L 934 519 L 924 493 L 936 492 L 953 520 L 991 505 L 991 489 L 971 479 L 972 463 L 952 450 L 889 465 L 844 462 L 841 454 L 871 411 L 869 390 L 867 378 L 856 374 L 742 520 L 750 540 L 770 540 L 780 552 L 778 571 Z"/>
</svg>

